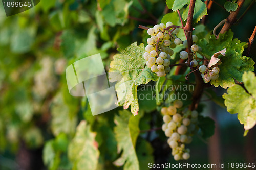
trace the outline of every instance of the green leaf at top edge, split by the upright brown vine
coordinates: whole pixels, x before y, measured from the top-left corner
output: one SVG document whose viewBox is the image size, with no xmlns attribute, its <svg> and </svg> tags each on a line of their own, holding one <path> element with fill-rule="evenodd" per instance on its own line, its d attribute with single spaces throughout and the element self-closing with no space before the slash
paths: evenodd
<svg viewBox="0 0 256 170">
<path fill-rule="evenodd" d="M 187 5 L 182 14 L 183 19 L 186 20 L 188 15 L 189 3 L 189 0 L 175 0 L 172 9 L 173 11 L 177 11 Z M 198 22 L 200 19 L 202 19 L 204 15 L 207 15 L 206 5 L 201 0 L 196 0 L 193 22 Z"/>
</svg>

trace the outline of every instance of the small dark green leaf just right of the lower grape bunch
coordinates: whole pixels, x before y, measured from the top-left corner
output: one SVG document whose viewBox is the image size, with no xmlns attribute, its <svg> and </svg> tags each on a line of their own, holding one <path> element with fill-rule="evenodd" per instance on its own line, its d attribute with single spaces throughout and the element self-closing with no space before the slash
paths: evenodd
<svg viewBox="0 0 256 170">
<path fill-rule="evenodd" d="M 202 131 L 203 138 L 209 138 L 214 135 L 215 122 L 210 117 L 198 116 L 198 126 Z"/>
</svg>

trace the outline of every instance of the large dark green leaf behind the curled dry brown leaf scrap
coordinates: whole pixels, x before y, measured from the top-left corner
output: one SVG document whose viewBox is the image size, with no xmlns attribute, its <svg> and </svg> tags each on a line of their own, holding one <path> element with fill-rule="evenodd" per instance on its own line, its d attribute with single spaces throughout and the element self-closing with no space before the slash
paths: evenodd
<svg viewBox="0 0 256 170">
<path fill-rule="evenodd" d="M 242 56 L 245 42 L 233 39 L 233 32 L 231 30 L 220 34 L 219 39 L 214 35 L 209 37 L 209 43 L 202 39 L 198 44 L 202 48 L 202 53 L 212 56 L 214 53 L 226 48 L 225 56 L 218 56 L 222 64 L 219 65 L 219 78 L 211 80 L 211 84 L 215 87 L 221 86 L 223 88 L 231 87 L 235 84 L 234 79 L 241 82 L 244 71 L 254 70 L 254 61 L 250 57 Z"/>
</svg>

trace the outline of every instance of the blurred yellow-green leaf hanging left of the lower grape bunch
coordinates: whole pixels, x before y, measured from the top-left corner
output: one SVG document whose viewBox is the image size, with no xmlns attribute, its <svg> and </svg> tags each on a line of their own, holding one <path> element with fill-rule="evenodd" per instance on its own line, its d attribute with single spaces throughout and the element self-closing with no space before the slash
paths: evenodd
<svg viewBox="0 0 256 170">
<path fill-rule="evenodd" d="M 139 169 L 139 161 L 136 155 L 135 145 L 139 135 L 140 116 L 131 116 L 130 112 L 123 110 L 119 116 L 115 116 L 114 132 L 117 140 L 117 152 L 122 151 L 122 155 L 114 164 L 116 166 L 124 165 L 124 170 Z"/>
</svg>

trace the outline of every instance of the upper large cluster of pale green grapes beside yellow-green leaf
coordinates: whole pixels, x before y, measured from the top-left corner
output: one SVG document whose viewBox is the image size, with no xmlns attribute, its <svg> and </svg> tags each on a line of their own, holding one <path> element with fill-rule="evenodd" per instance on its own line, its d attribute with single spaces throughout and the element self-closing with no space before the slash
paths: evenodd
<svg viewBox="0 0 256 170">
<path fill-rule="evenodd" d="M 159 77 L 170 72 L 170 56 L 174 54 L 172 49 L 182 43 L 181 39 L 176 36 L 179 29 L 168 29 L 172 25 L 172 22 L 167 22 L 166 25 L 160 23 L 147 30 L 151 38 L 147 39 L 146 52 L 143 57 L 147 61 L 147 67 L 151 68 L 152 72 L 156 72 Z"/>
</svg>

